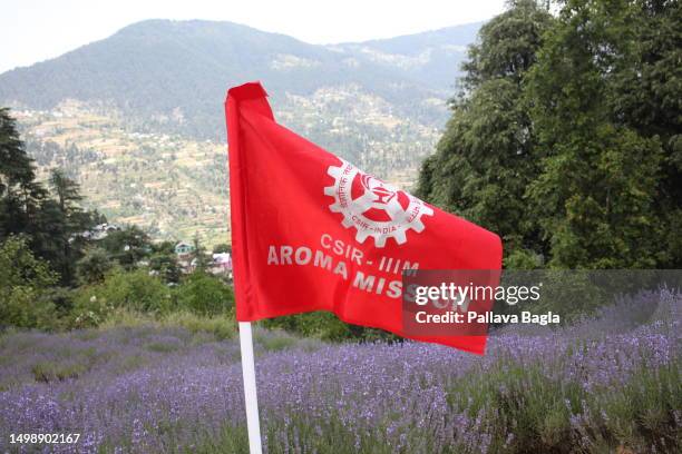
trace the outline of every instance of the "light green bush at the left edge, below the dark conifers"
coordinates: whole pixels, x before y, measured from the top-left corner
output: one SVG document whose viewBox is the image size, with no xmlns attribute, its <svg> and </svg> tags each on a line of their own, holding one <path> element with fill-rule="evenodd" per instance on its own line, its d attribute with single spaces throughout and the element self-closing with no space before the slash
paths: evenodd
<svg viewBox="0 0 682 454">
<path fill-rule="evenodd" d="M 37 259 L 23 237 L 0 244 L 0 323 L 21 328 L 51 328 L 56 317 L 46 288 L 57 282 L 45 261 Z"/>
</svg>

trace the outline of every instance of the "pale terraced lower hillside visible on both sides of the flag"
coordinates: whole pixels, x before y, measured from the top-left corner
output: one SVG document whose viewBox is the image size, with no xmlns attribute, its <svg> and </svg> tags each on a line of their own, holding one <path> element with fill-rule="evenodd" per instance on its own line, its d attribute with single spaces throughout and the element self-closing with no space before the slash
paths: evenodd
<svg viewBox="0 0 682 454">
<path fill-rule="evenodd" d="M 402 188 L 413 184 L 439 135 L 436 127 L 400 118 L 390 103 L 353 86 L 288 96 L 273 108 L 282 124 Z M 40 177 L 53 167 L 66 169 L 81 185 L 86 205 L 110 221 L 139 225 L 158 238 L 198 234 L 207 245 L 228 240 L 223 138 L 140 131 L 111 107 L 76 100 L 49 111 L 12 114 Z"/>
</svg>

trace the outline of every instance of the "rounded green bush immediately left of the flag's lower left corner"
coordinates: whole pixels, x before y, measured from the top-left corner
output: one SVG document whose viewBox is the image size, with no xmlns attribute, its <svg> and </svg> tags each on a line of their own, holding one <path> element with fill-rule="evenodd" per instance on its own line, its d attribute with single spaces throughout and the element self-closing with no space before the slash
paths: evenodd
<svg viewBox="0 0 682 454">
<path fill-rule="evenodd" d="M 197 269 L 177 287 L 177 305 L 198 315 L 220 315 L 234 307 L 234 295 L 221 279 Z"/>
</svg>

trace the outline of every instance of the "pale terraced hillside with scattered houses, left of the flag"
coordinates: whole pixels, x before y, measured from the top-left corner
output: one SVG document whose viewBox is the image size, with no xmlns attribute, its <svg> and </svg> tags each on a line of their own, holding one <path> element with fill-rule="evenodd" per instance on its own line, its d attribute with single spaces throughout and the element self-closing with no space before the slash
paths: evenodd
<svg viewBox="0 0 682 454">
<path fill-rule="evenodd" d="M 86 205 L 119 224 L 164 238 L 208 244 L 228 235 L 226 146 L 130 131 L 115 114 L 69 101 L 52 111 L 14 111 L 28 148 L 47 177 L 65 168 Z"/>
</svg>

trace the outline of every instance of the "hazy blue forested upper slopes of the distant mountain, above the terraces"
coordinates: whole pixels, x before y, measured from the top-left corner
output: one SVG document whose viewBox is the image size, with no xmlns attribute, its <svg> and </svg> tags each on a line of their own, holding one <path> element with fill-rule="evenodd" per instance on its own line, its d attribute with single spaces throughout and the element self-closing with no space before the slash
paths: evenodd
<svg viewBox="0 0 682 454">
<path fill-rule="evenodd" d="M 452 91 L 465 46 L 478 24 L 392 39 L 309 45 L 231 22 L 147 20 L 52 60 L 0 75 L 0 102 L 50 109 L 67 98 L 99 101 L 135 120 L 166 124 L 198 138 L 222 130 L 225 89 L 260 79 L 284 93 L 310 96 L 357 86 L 397 114 L 440 124 L 442 111 L 420 107 Z M 170 125 L 167 125 L 167 124 Z"/>
</svg>

